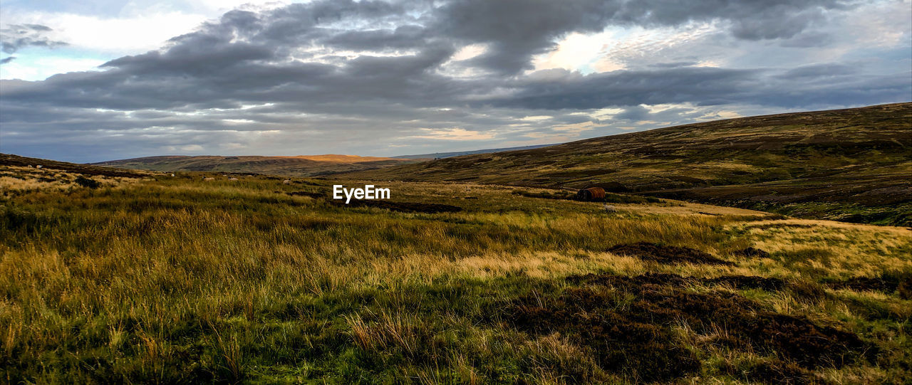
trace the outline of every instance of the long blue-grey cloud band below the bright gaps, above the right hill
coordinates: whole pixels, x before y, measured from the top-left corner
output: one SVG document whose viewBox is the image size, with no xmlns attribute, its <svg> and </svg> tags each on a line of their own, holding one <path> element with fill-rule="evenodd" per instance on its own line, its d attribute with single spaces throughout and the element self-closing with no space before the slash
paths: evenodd
<svg viewBox="0 0 912 385">
<path fill-rule="evenodd" d="M 801 66 L 787 71 L 676 67 L 588 76 L 565 70 L 551 72 L 559 75 L 543 81 L 523 81 L 517 86 L 521 91 L 492 100 L 492 104 L 534 109 L 673 103 L 847 106 L 858 100 L 865 100 L 865 104 L 907 100 L 912 95 L 908 72 L 850 76 L 857 69 L 841 64 Z"/>
</svg>

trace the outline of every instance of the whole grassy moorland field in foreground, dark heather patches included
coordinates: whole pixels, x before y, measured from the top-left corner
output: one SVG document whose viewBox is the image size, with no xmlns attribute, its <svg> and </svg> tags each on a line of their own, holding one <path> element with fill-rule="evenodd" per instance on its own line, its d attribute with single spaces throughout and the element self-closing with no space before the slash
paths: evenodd
<svg viewBox="0 0 912 385">
<path fill-rule="evenodd" d="M 908 228 L 463 183 L 345 206 L 332 180 L 0 173 L 0 382 L 912 378 Z"/>
</svg>

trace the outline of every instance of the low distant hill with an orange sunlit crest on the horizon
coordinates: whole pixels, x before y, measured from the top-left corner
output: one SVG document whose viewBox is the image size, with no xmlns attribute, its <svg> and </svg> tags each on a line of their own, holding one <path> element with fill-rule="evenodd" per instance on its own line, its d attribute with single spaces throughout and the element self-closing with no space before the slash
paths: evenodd
<svg viewBox="0 0 912 385">
<path fill-rule="evenodd" d="M 315 177 L 343 171 L 390 167 L 414 161 L 412 159 L 394 159 L 391 157 L 358 157 L 335 154 L 298 157 L 166 156 L 110 160 L 92 163 L 91 165 L 153 171 L 211 171 Z"/>
</svg>

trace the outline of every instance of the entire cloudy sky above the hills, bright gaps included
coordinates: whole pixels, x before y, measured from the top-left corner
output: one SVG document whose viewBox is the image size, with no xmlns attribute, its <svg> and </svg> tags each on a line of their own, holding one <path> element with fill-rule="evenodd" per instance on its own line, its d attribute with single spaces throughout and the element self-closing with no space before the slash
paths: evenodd
<svg viewBox="0 0 912 385">
<path fill-rule="evenodd" d="M 397 156 L 912 101 L 912 0 L 0 0 L 0 152 Z"/>
</svg>

